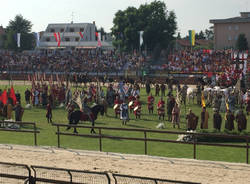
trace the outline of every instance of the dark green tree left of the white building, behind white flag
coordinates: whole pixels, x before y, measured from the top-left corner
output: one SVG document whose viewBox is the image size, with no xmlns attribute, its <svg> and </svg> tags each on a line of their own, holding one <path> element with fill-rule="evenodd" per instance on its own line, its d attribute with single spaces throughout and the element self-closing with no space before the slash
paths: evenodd
<svg viewBox="0 0 250 184">
<path fill-rule="evenodd" d="M 30 50 L 34 48 L 35 36 L 31 33 L 32 23 L 24 19 L 22 15 L 16 15 L 14 20 L 9 21 L 6 28 L 6 40 L 4 41 L 5 49 L 9 50 Z M 21 47 L 17 47 L 16 35 L 21 33 Z"/>
</svg>

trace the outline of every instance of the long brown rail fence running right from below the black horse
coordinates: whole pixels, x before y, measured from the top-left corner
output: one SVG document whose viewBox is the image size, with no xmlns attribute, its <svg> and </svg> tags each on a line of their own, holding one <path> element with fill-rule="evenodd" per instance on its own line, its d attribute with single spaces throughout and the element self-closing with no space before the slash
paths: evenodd
<svg viewBox="0 0 250 184">
<path fill-rule="evenodd" d="M 197 146 L 198 145 L 205 145 L 205 146 L 215 146 L 215 147 L 230 147 L 230 148 L 243 148 L 246 150 L 246 163 L 249 162 L 249 140 L 250 136 L 240 136 L 240 135 L 224 135 L 224 134 L 207 134 L 207 133 L 192 133 L 192 132 L 174 132 L 174 131 L 159 131 L 159 130 L 148 130 L 148 129 L 131 129 L 131 128 L 109 128 L 109 127 L 94 127 L 98 130 L 98 133 L 95 135 L 90 134 L 75 134 L 75 133 L 68 133 L 62 132 L 60 127 L 72 127 L 72 128 L 83 128 L 83 129 L 92 129 L 92 126 L 76 126 L 76 125 L 66 125 L 66 124 L 53 124 L 53 126 L 57 127 L 57 146 L 61 147 L 60 136 L 78 136 L 78 137 L 88 137 L 88 138 L 95 138 L 99 140 L 99 150 L 103 150 L 103 139 L 114 139 L 114 140 L 131 140 L 131 141 L 141 141 L 144 142 L 144 154 L 148 153 L 148 142 L 164 142 L 164 143 L 175 143 L 175 144 L 189 144 L 193 145 L 193 158 L 197 158 Z M 121 136 L 112 136 L 107 134 L 102 134 L 103 130 L 112 130 L 112 131 L 127 131 L 127 132 L 141 132 L 143 138 L 139 137 L 121 137 Z M 155 138 L 148 138 L 149 133 L 156 133 L 156 134 L 172 134 L 172 135 L 191 135 L 192 141 L 176 141 L 171 139 L 155 139 Z M 197 138 L 223 138 L 229 140 L 242 140 L 244 141 L 243 144 L 229 144 L 229 143 L 210 143 L 210 142 L 200 142 L 197 141 Z M 122 145 L 122 144 L 121 144 Z"/>
</svg>

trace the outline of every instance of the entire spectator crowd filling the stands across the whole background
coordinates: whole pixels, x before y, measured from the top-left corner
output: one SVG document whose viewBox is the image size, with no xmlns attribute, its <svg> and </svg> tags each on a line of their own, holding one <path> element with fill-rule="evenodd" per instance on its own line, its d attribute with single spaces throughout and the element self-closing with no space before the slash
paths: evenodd
<svg viewBox="0 0 250 184">
<path fill-rule="evenodd" d="M 74 50 L 19 53 L 0 52 L 1 71 L 22 72 L 122 72 L 148 68 L 153 71 L 179 73 L 241 73 L 243 64 L 236 65 L 231 51 L 181 50 L 170 53 L 165 64 L 152 65 L 138 54 L 117 54 L 113 51 Z M 237 76 L 239 77 L 239 76 Z"/>
</svg>

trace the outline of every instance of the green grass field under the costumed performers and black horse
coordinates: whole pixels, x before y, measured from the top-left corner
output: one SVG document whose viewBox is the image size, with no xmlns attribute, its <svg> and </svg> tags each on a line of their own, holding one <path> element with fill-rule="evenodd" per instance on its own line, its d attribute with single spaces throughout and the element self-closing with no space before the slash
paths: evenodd
<svg viewBox="0 0 250 184">
<path fill-rule="evenodd" d="M 2 89 L 8 86 L 1 86 Z M 22 105 L 25 106 L 24 102 L 24 91 L 29 86 L 15 86 L 15 90 L 19 90 L 22 96 Z M 166 93 L 167 94 L 167 93 Z M 146 106 L 146 93 L 145 89 L 141 91 L 141 100 L 144 102 L 142 108 L 141 120 L 135 120 L 134 114 L 130 114 L 131 120 L 125 126 L 121 124 L 119 119 L 115 119 L 114 111 L 112 108 L 108 109 L 108 116 L 99 116 L 96 121 L 96 126 L 105 127 L 124 127 L 124 128 L 144 128 L 144 129 L 156 129 L 156 125 L 162 121 L 158 120 L 156 112 L 154 115 L 149 115 Z M 159 98 L 155 99 L 158 102 Z M 165 97 L 166 101 L 166 97 Z M 186 110 L 189 108 L 193 109 L 196 115 L 200 116 L 201 108 L 197 105 L 187 105 Z M 156 108 L 155 108 L 156 109 Z M 209 111 L 209 132 L 213 132 L 212 125 L 212 109 L 208 108 Z M 13 113 L 14 114 L 14 113 Z M 25 110 L 23 121 L 26 122 L 36 122 L 37 127 L 40 130 L 38 134 L 38 145 L 41 146 L 56 146 L 57 136 L 55 134 L 56 128 L 47 123 L 45 117 L 46 110 L 43 108 L 32 108 L 30 110 Z M 222 114 L 224 117 L 224 114 Z M 65 109 L 53 109 L 53 122 L 66 124 L 67 121 L 67 111 Z M 222 128 L 224 130 L 223 121 Z M 200 124 L 200 122 L 199 122 Z M 90 122 L 86 122 L 85 125 L 90 125 Z M 185 108 L 181 108 L 181 129 L 173 129 L 172 124 L 165 121 L 165 130 L 177 130 L 185 131 L 186 120 L 185 120 Z M 236 123 L 235 123 L 236 125 Z M 199 129 L 199 125 L 198 125 Z M 70 130 L 73 132 L 73 130 Z M 89 133 L 87 129 L 78 129 L 79 133 Z M 250 127 L 248 126 L 247 132 L 250 132 Z M 143 138 L 143 133 L 138 132 L 114 132 L 114 131 L 103 131 L 107 135 L 119 135 L 126 137 L 141 137 Z M 223 132 L 222 132 L 223 133 Z M 237 134 L 238 132 L 231 132 Z M 246 132 L 245 132 L 246 133 Z M 168 138 L 177 139 L 177 135 L 164 135 L 164 134 L 149 134 L 150 138 Z M 61 137 L 61 147 L 74 148 L 74 149 L 84 149 L 84 150 L 98 150 L 99 144 L 98 139 L 82 138 L 82 137 Z M 33 135 L 23 134 L 23 133 L 9 133 L 0 132 L 0 143 L 1 144 L 22 144 L 22 145 L 33 145 Z M 139 141 L 127 141 L 127 140 L 103 140 L 103 151 L 106 152 L 120 152 L 120 153 L 131 153 L 131 154 L 144 154 L 144 143 Z M 148 154 L 155 156 L 166 156 L 166 157 L 177 157 L 177 158 L 192 158 L 193 146 L 192 145 L 182 145 L 173 143 L 148 143 Z M 246 150 L 241 148 L 224 148 L 224 147 L 208 147 L 208 146 L 198 146 L 197 147 L 197 159 L 203 160 L 216 160 L 216 161 L 229 161 L 229 162 L 245 162 Z"/>
</svg>

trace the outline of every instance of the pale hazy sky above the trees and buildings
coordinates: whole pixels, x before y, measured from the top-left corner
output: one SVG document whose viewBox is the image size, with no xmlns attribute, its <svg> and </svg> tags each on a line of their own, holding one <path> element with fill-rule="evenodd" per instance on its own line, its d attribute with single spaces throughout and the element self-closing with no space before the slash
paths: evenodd
<svg viewBox="0 0 250 184">
<path fill-rule="evenodd" d="M 44 31 L 49 23 L 92 23 L 110 32 L 113 18 L 118 10 L 129 6 L 138 8 L 153 0 L 0 0 L 0 25 L 6 27 L 15 15 L 21 14 L 33 24 L 32 31 Z M 167 10 L 177 16 L 181 36 L 188 30 L 196 32 L 212 26 L 210 19 L 224 19 L 239 16 L 250 11 L 250 0 L 162 0 Z M 73 16 L 72 16 L 73 15 Z"/>
</svg>

